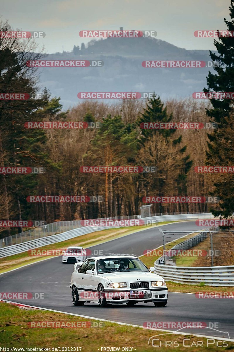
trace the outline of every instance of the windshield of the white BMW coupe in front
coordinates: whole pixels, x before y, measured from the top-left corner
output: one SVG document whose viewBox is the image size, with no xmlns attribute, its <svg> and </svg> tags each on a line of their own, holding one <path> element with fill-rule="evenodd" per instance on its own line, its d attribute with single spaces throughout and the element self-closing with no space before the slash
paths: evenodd
<svg viewBox="0 0 234 352">
<path fill-rule="evenodd" d="M 137 258 L 105 258 L 97 260 L 97 274 L 118 271 L 147 271 L 149 269 Z"/>
</svg>

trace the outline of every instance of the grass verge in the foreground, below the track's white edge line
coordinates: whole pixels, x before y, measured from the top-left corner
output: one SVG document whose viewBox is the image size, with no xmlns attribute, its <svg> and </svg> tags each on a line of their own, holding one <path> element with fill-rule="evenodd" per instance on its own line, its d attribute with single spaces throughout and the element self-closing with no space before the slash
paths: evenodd
<svg viewBox="0 0 234 352">
<path fill-rule="evenodd" d="M 101 309 L 103 308 L 100 308 L 100 310 Z M 131 308 L 126 307 L 126 309 L 131 311 Z M 155 307 L 153 309 L 157 310 L 158 308 Z M 166 309 L 166 307 L 164 309 Z M 77 309 L 74 309 L 74 311 L 77 311 Z M 35 321 L 72 321 L 80 322 L 80 324 L 81 322 L 89 321 L 91 323 L 95 322 L 97 327 L 31 328 L 28 326 L 31 322 Z M 69 351 L 68 348 L 70 347 L 71 351 L 71 347 L 76 347 L 76 351 L 80 351 L 81 347 L 81 351 L 83 352 L 103 351 L 101 350 L 102 347 L 119 347 L 120 351 L 122 347 L 132 347 L 132 351 L 136 352 L 152 351 L 154 348 L 152 345 L 148 345 L 149 338 L 163 333 L 127 325 L 118 325 L 116 323 L 90 320 L 62 313 L 43 310 L 24 310 L 9 303 L 0 303 L 0 332 L 0 346 L 5 348 L 60 347 L 60 351 Z M 185 345 L 191 346 L 190 351 L 201 351 L 201 343 L 202 351 L 217 351 L 215 341 L 213 341 L 214 343 L 212 345 L 207 347 L 206 338 L 193 335 L 169 334 L 161 335 L 158 338 L 161 343 L 165 344 L 165 341 L 169 341 L 171 344 L 175 344 L 176 341 L 180 346 L 179 349 L 178 347 L 171 348 L 162 346 L 160 348 L 161 352 L 168 350 L 187 351 L 188 347 L 183 346 L 183 339 L 190 339 L 185 341 Z M 198 341 L 200 341 L 200 346 L 197 346 Z M 155 341 L 154 343 L 157 344 L 160 342 Z M 219 351 L 234 351 L 234 342 L 219 341 L 219 343 L 226 343 L 228 345 L 227 347 L 219 347 Z M 63 347 L 66 347 L 67 350 L 62 350 Z M 127 351 L 131 351 L 131 349 Z"/>
</svg>

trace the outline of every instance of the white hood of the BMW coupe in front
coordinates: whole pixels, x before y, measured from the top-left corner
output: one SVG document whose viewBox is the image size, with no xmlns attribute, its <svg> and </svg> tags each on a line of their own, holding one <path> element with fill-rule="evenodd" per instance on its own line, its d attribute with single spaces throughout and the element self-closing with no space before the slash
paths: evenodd
<svg viewBox="0 0 234 352">
<path fill-rule="evenodd" d="M 111 282 L 133 282 L 133 281 L 162 281 L 162 276 L 146 271 L 127 271 L 127 272 L 107 272 L 99 274 Z M 138 280 L 137 280 L 138 279 Z M 139 280 L 140 279 L 140 280 Z"/>
</svg>

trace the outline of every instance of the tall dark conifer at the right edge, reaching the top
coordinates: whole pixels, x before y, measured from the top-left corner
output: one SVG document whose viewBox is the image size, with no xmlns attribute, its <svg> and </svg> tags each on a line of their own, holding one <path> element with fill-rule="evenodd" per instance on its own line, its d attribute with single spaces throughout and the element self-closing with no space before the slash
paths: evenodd
<svg viewBox="0 0 234 352">
<path fill-rule="evenodd" d="M 231 20 L 224 19 L 227 29 L 234 31 L 234 0 L 230 7 Z M 217 62 L 214 67 L 216 73 L 209 72 L 207 77 L 208 89 L 204 92 L 234 92 L 234 46 L 233 38 L 220 37 L 214 41 L 218 54 L 210 52 L 210 57 Z M 207 164 L 209 165 L 234 165 L 233 133 L 230 126 L 234 123 L 233 99 L 211 99 L 212 109 L 207 109 L 211 121 L 216 122 L 217 129 L 208 134 Z M 219 196 L 220 211 L 212 210 L 215 216 L 227 217 L 234 211 L 234 182 L 233 175 L 214 175 L 215 190 L 213 195 Z"/>
</svg>

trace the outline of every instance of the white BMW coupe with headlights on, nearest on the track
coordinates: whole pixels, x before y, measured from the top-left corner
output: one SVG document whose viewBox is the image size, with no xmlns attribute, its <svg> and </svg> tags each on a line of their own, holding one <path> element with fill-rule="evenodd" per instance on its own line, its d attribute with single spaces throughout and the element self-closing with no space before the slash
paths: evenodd
<svg viewBox="0 0 234 352">
<path fill-rule="evenodd" d="M 134 306 L 138 302 L 153 302 L 156 307 L 167 304 L 168 288 L 154 267 L 148 269 L 137 257 L 102 256 L 74 265 L 71 294 L 74 306 L 85 302 Z"/>
</svg>

